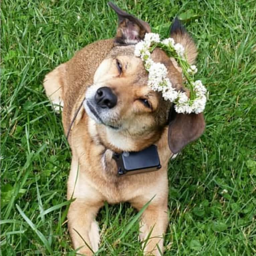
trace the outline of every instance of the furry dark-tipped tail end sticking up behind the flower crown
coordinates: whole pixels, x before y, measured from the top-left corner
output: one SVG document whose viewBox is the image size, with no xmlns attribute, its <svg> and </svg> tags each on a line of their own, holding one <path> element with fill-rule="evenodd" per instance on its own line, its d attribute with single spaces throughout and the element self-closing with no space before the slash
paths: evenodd
<svg viewBox="0 0 256 256">
<path fill-rule="evenodd" d="M 197 46 L 178 18 L 175 18 L 171 25 L 170 37 L 174 39 L 175 43 L 183 45 L 187 62 L 190 65 L 193 64 L 197 58 Z"/>
</svg>

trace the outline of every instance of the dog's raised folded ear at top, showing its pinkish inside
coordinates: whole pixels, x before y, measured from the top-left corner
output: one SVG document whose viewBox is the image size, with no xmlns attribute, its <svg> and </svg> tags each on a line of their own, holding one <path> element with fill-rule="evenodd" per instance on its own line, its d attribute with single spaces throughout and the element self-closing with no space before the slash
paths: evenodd
<svg viewBox="0 0 256 256">
<path fill-rule="evenodd" d="M 119 25 L 114 41 L 115 44 L 136 44 L 144 38 L 145 33 L 150 32 L 150 26 L 147 22 L 126 13 L 125 11 L 114 5 L 112 2 L 108 2 L 108 5 L 112 9 L 114 9 L 119 19 Z"/>
</svg>

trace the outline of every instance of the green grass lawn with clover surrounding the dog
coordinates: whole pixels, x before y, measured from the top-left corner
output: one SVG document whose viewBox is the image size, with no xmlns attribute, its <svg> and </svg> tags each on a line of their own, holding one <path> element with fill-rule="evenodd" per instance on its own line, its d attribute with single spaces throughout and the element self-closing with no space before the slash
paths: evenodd
<svg viewBox="0 0 256 256">
<path fill-rule="evenodd" d="M 163 37 L 183 18 L 210 92 L 204 135 L 169 164 L 165 255 L 256 255 L 255 1 L 116 3 Z M 104 0 L 1 4 L 1 255 L 75 255 L 65 218 L 71 153 L 42 81 L 113 37 L 117 17 Z M 142 255 L 136 214 L 105 204 L 98 255 Z"/>
</svg>

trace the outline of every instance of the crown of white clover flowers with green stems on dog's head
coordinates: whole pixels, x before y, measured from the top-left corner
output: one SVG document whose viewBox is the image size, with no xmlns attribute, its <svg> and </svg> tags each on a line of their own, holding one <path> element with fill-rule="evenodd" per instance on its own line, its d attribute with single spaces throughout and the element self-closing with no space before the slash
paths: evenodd
<svg viewBox="0 0 256 256">
<path fill-rule="evenodd" d="M 166 52 L 169 57 L 174 57 L 182 69 L 186 78 L 186 84 L 190 90 L 188 98 L 185 92 L 176 91 L 167 77 L 167 69 L 162 63 L 156 63 L 150 58 L 150 53 L 159 47 Z M 140 57 L 144 62 L 144 67 L 148 72 L 148 86 L 156 92 L 161 92 L 164 100 L 175 103 L 177 113 L 192 112 L 198 114 L 204 111 L 206 104 L 207 90 L 201 80 L 194 81 L 197 73 L 195 65 L 189 65 L 184 55 L 184 47 L 180 43 L 174 42 L 173 38 L 160 41 L 159 34 L 146 33 L 144 40 L 135 45 L 135 56 Z"/>
</svg>

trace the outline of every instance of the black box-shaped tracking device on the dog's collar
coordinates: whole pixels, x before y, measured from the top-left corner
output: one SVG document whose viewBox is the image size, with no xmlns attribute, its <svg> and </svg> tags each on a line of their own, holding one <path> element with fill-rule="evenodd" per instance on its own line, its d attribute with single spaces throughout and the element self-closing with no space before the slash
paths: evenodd
<svg viewBox="0 0 256 256">
<path fill-rule="evenodd" d="M 151 145 L 139 152 L 114 153 L 118 175 L 157 171 L 161 168 L 157 146 Z"/>
</svg>

